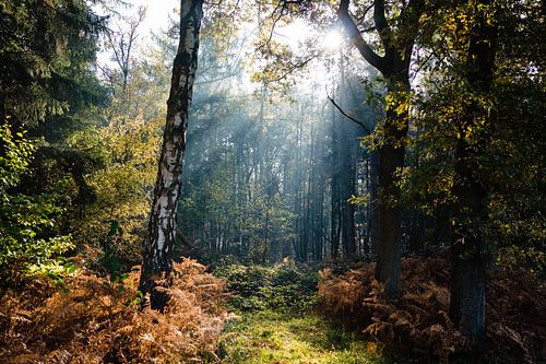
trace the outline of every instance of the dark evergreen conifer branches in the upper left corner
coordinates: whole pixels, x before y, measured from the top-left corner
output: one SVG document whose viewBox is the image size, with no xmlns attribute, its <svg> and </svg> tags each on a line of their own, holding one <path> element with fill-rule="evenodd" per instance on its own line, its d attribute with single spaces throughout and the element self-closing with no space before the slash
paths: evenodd
<svg viewBox="0 0 546 364">
<path fill-rule="evenodd" d="M 0 2 L 0 116 L 21 126 L 104 101 L 91 66 L 104 19 L 82 0 Z"/>
</svg>

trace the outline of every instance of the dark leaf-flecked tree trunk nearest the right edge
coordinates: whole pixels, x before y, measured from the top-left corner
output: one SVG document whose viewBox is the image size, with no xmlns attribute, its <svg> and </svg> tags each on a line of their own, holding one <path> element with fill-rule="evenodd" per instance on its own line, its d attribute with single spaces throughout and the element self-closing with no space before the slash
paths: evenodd
<svg viewBox="0 0 546 364">
<path fill-rule="evenodd" d="M 474 3 L 475 25 L 470 34 L 466 81 L 471 92 L 487 97 L 492 85 L 497 28 L 482 9 L 488 0 Z M 482 7 L 485 5 L 485 7 Z M 450 317 L 459 329 L 475 340 L 479 354 L 485 341 L 485 272 L 488 262 L 486 239 L 480 226 L 487 218 L 486 190 L 479 183 L 478 158 L 487 142 L 483 130 L 490 116 L 476 102 L 466 106 L 455 146 L 453 195 L 455 225 L 452 242 Z M 480 124 L 482 131 L 466 133 Z"/>
</svg>

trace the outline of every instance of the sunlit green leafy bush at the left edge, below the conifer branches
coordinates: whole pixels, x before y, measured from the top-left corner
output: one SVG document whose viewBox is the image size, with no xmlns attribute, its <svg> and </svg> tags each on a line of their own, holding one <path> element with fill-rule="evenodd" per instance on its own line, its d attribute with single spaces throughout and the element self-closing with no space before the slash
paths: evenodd
<svg viewBox="0 0 546 364">
<path fill-rule="evenodd" d="M 17 191 L 35 144 L 23 132 L 0 127 L 0 279 L 13 284 L 23 273 L 37 271 L 72 247 L 70 236 L 55 234 L 62 197 L 26 196 Z"/>
</svg>

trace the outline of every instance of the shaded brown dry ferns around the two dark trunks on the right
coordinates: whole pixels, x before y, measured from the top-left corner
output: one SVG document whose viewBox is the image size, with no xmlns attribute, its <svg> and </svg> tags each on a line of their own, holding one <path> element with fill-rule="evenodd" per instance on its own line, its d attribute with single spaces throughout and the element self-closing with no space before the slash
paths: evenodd
<svg viewBox="0 0 546 364">
<path fill-rule="evenodd" d="M 385 349 L 405 350 L 422 360 L 464 357 L 471 343 L 448 316 L 449 267 L 441 259 L 403 261 L 403 295 L 381 297 L 373 265 L 334 277 L 322 270 L 321 307 L 356 325 Z M 537 363 L 546 359 L 546 287 L 527 274 L 491 273 L 487 281 L 487 353 L 497 363 Z M 358 321 L 355 321 L 355 318 Z"/>
</svg>

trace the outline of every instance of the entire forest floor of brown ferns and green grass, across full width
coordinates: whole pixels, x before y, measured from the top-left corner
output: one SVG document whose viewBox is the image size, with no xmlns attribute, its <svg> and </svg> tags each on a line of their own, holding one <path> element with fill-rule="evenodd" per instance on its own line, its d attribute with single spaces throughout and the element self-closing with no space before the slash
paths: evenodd
<svg viewBox="0 0 546 364">
<path fill-rule="evenodd" d="M 448 263 L 402 266 L 404 295 L 389 303 L 369 265 L 209 269 L 185 259 L 165 280 L 164 313 L 141 306 L 138 268 L 122 280 L 83 266 L 62 280 L 36 277 L 0 294 L 0 362 L 471 362 L 446 314 Z M 487 289 L 485 362 L 546 363 L 546 285 L 498 271 Z"/>
</svg>

